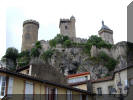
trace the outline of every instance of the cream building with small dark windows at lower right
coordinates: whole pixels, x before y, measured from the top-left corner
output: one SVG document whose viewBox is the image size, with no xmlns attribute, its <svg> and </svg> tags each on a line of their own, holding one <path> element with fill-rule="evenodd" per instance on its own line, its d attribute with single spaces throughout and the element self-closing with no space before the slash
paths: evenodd
<svg viewBox="0 0 133 100">
<path fill-rule="evenodd" d="M 126 94 L 124 89 L 128 85 L 127 68 L 115 71 L 113 76 L 111 77 L 105 77 L 102 79 L 92 81 L 93 93 L 113 94 L 112 89 L 115 88 L 116 94 L 120 94 L 120 91 L 117 86 L 120 81 L 122 84 L 122 93 Z"/>
</svg>

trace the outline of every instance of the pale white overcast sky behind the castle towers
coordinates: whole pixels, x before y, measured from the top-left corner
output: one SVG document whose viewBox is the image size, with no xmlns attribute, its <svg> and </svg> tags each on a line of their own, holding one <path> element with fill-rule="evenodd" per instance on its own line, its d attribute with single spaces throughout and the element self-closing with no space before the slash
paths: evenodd
<svg viewBox="0 0 133 100">
<path fill-rule="evenodd" d="M 76 18 L 76 35 L 97 35 L 104 20 L 114 32 L 114 42 L 127 40 L 127 5 L 132 0 L 4 0 L 0 3 L 0 58 L 6 48 L 21 50 L 22 24 L 34 19 L 40 23 L 39 40 L 59 33 L 60 18 Z"/>
</svg>

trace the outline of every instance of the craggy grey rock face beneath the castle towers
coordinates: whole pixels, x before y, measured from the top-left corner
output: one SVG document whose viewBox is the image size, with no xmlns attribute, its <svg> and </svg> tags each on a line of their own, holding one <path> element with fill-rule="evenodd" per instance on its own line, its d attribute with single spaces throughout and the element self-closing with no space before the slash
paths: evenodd
<svg viewBox="0 0 133 100">
<path fill-rule="evenodd" d="M 106 76 L 109 73 L 108 69 L 102 63 L 92 59 L 93 57 L 97 57 L 101 51 L 118 61 L 115 70 L 127 66 L 126 42 L 117 43 L 111 49 L 98 49 L 92 46 L 91 56 L 84 53 L 82 47 L 63 48 L 61 45 L 57 45 L 54 49 L 55 52 L 48 60 L 48 63 L 56 67 L 64 75 L 89 71 L 92 79 Z"/>
</svg>

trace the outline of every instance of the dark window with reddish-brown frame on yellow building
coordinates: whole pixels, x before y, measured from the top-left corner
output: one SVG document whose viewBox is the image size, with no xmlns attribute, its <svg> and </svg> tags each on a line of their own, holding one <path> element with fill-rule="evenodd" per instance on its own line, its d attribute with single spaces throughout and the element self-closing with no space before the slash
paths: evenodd
<svg viewBox="0 0 133 100">
<path fill-rule="evenodd" d="M 57 100 L 57 88 L 46 88 L 46 100 Z"/>
</svg>

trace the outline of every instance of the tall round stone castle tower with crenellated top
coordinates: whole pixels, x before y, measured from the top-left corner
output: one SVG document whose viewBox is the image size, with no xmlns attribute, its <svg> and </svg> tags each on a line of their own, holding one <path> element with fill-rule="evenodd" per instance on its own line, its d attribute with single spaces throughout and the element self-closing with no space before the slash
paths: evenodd
<svg viewBox="0 0 133 100">
<path fill-rule="evenodd" d="M 38 40 L 39 23 L 35 20 L 23 22 L 22 48 L 21 51 L 30 50 Z"/>
</svg>

